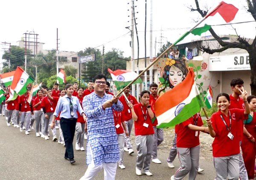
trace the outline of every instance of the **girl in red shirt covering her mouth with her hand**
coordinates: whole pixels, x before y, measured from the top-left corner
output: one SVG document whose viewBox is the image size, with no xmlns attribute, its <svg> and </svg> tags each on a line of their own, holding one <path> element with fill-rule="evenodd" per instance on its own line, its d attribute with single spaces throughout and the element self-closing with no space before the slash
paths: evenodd
<svg viewBox="0 0 256 180">
<path fill-rule="evenodd" d="M 132 119 L 134 120 L 135 143 L 137 147 L 136 174 L 138 176 L 142 175 L 142 170 L 143 174 L 147 176 L 153 175 L 149 172 L 149 166 L 154 145 L 152 123 L 155 116 L 153 107 L 149 105 L 149 96 L 149 91 L 143 90 L 140 93 L 142 102 L 136 105 L 133 105 L 131 102 L 128 103 L 128 106 L 131 108 Z"/>
</svg>

